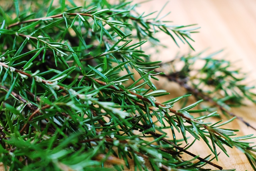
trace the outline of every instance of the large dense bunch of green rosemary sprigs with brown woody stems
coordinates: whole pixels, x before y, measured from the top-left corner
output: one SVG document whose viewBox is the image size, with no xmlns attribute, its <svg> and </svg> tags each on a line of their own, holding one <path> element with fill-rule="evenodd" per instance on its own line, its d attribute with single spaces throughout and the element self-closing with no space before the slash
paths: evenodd
<svg viewBox="0 0 256 171">
<path fill-rule="evenodd" d="M 202 99 L 212 99 L 210 91 L 202 93 L 207 90 L 199 91 L 198 82 L 191 81 L 189 68 L 197 57 L 182 57 L 183 76 L 171 77 L 172 70 L 158 71 L 166 64 L 150 61 L 142 50 L 146 40 L 152 45 L 160 42 L 157 32 L 192 48 L 190 34 L 198 28 L 171 25 L 164 21 L 162 10 L 152 18 L 155 12 L 138 12 L 138 4 L 126 0 L 113 4 L 90 0 L 84 6 L 76 6 L 73 0 L 60 0 L 57 6 L 53 2 L 31 1 L 30 6 L 14 0 L 0 7 L 0 161 L 5 169 L 112 170 L 106 166 L 109 163 L 122 170 L 130 168 L 132 159 L 135 170 L 210 170 L 203 169 L 206 164 L 222 170 L 211 162 L 218 159 L 218 146 L 226 154 L 226 147 L 238 148 L 256 170 L 256 149 L 244 141 L 254 137 L 236 137 L 238 130 L 222 128 L 235 117 L 207 123 L 204 119 L 218 116 L 215 111 L 192 109 Z M 218 70 L 213 58 L 204 60 Z M 201 71 L 210 73 L 212 66 Z M 134 74 L 140 77 L 135 79 Z M 212 79 L 216 91 L 224 92 L 213 99 L 215 107 L 223 107 L 226 100 L 237 104 L 244 96 L 253 98 L 245 85 L 232 85 L 237 81 L 232 72 L 224 74 L 210 75 L 218 79 L 194 78 L 207 85 Z M 172 107 L 188 95 L 157 102 L 155 97 L 169 94 L 152 83 L 159 75 L 185 88 L 188 84 L 181 80 L 189 78 L 198 89 L 188 91 L 199 100 L 179 110 Z M 229 86 L 240 89 L 239 96 L 230 94 L 230 87 L 218 86 L 220 76 L 227 75 L 234 78 Z M 172 137 L 166 136 L 167 129 Z M 191 135 L 193 143 L 203 140 L 214 156 L 202 158 L 189 152 L 193 143 L 180 143 L 176 131 L 185 143 Z M 192 159 L 182 159 L 184 153 Z"/>
</svg>

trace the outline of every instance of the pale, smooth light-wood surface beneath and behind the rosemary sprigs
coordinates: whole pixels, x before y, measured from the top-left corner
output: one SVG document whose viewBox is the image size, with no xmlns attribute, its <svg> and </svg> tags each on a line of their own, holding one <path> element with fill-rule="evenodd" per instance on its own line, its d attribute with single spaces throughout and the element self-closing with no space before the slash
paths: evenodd
<svg viewBox="0 0 256 171">
<path fill-rule="evenodd" d="M 134 2 L 142 2 L 135 0 Z M 152 0 L 141 5 L 141 11 L 145 14 L 160 10 L 166 3 L 166 0 Z M 220 49 L 225 49 L 222 56 L 235 62 L 238 68 L 248 72 L 248 83 L 255 85 L 256 80 L 256 1 L 255 0 L 170 0 L 166 8 L 160 16 L 171 11 L 171 14 L 165 20 L 173 21 L 173 24 L 198 24 L 201 28 L 200 33 L 192 34 L 195 42 L 192 46 L 196 52 L 210 48 L 206 52 L 211 53 Z M 159 35 L 161 41 L 168 46 L 162 49 L 160 54 L 153 55 L 154 58 L 163 61 L 174 58 L 177 52 L 186 54 L 189 52 L 187 45 L 177 48 L 171 38 L 164 34 Z M 169 89 L 175 93 L 177 89 L 172 89 L 165 81 L 160 83 L 161 88 Z M 163 99 L 162 101 L 165 101 Z M 256 127 L 256 106 L 250 104 L 248 106 L 233 108 L 232 112 L 242 116 L 246 121 Z M 256 134 L 256 131 L 248 128 L 242 122 L 235 120 L 232 124 L 227 125 L 232 129 L 240 129 L 238 135 Z M 170 134 L 170 137 L 171 134 Z M 256 142 L 256 140 L 252 140 Z M 196 143 L 197 147 L 189 149 L 189 151 L 200 154 L 200 157 L 206 157 L 210 154 L 210 150 L 204 142 Z M 245 155 L 237 149 L 226 148 L 230 157 L 223 152 L 219 156 L 219 161 L 214 163 L 221 165 L 224 169 L 236 168 L 238 171 L 252 171 L 252 167 L 247 161 Z M 206 165 L 205 168 L 212 168 Z"/>
</svg>

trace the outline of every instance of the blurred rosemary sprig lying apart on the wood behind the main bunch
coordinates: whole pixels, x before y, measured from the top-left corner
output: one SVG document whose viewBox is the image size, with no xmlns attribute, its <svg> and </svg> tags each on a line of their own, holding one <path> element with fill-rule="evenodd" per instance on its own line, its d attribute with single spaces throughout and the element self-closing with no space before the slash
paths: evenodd
<svg viewBox="0 0 256 171">
<path fill-rule="evenodd" d="M 196 55 L 185 55 L 169 62 L 161 63 L 161 76 L 171 82 L 184 87 L 188 94 L 192 94 L 197 100 L 204 99 L 208 103 L 200 103 L 201 109 L 207 111 L 220 111 L 227 117 L 237 117 L 247 126 L 256 130 L 256 127 L 245 121 L 242 117 L 230 112 L 230 107 L 243 105 L 244 99 L 255 103 L 254 86 L 248 86 L 246 74 L 239 69 L 233 69 L 230 61 L 214 58 L 222 50 L 204 56 L 203 52 Z M 198 64 L 202 67 L 198 67 Z M 179 67 L 177 67 L 179 66 Z M 159 69 L 158 69 L 159 70 Z M 184 100 L 182 105 L 186 105 Z"/>
</svg>

